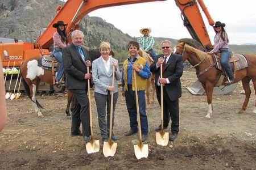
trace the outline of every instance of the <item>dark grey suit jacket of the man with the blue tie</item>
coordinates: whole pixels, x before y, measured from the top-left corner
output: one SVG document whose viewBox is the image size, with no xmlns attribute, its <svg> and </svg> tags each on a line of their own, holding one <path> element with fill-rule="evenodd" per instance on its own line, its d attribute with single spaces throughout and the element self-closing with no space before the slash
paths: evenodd
<svg viewBox="0 0 256 170">
<path fill-rule="evenodd" d="M 91 61 L 88 50 L 83 47 L 81 49 L 84 52 L 85 61 Z M 87 67 L 73 43 L 63 49 L 62 62 L 66 76 L 65 86 L 68 89 L 86 90 L 88 80 L 84 79 L 84 76 L 87 73 Z"/>
</svg>

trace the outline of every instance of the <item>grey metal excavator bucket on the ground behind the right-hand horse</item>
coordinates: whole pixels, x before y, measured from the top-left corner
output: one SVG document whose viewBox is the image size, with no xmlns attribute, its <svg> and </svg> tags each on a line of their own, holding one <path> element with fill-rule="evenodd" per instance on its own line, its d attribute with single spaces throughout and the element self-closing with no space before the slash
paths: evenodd
<svg viewBox="0 0 256 170">
<path fill-rule="evenodd" d="M 219 86 L 213 88 L 213 95 L 224 95 L 232 92 L 237 87 L 237 83 L 229 86 Z M 199 80 L 196 80 L 191 86 L 187 87 L 187 90 L 193 95 L 206 95 L 205 90 Z"/>
</svg>

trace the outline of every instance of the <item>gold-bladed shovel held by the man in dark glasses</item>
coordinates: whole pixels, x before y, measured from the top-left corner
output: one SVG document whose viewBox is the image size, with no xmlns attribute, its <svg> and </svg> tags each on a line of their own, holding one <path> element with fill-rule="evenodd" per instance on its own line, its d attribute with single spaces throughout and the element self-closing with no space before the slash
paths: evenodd
<svg viewBox="0 0 256 170">
<path fill-rule="evenodd" d="M 160 77 L 163 78 L 162 63 L 160 65 Z M 161 84 L 161 131 L 156 132 L 156 143 L 158 145 L 166 146 L 169 142 L 169 133 L 163 131 L 163 84 Z"/>
</svg>

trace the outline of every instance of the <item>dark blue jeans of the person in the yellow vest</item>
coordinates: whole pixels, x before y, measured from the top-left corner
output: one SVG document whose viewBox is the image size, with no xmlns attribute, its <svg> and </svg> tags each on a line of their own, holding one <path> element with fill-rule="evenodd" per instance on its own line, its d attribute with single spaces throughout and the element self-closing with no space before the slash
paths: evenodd
<svg viewBox="0 0 256 170">
<path fill-rule="evenodd" d="M 130 117 L 130 127 L 131 130 L 138 130 L 137 122 L 137 106 L 136 106 L 136 96 L 135 91 L 128 87 L 128 91 L 125 91 L 125 100 L 127 111 Z M 139 102 L 139 116 L 141 117 L 141 131 L 143 135 L 148 133 L 147 115 L 146 115 L 146 100 L 145 91 L 138 91 L 138 102 Z"/>
</svg>

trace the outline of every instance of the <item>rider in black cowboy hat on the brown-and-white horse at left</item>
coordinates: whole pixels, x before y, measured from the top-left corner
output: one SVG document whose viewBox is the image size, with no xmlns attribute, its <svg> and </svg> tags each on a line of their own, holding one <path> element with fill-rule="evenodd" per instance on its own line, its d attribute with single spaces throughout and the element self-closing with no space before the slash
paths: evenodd
<svg viewBox="0 0 256 170">
<path fill-rule="evenodd" d="M 68 44 L 68 36 L 66 33 L 65 26 L 68 24 L 64 24 L 62 20 L 59 20 L 57 23 L 54 23 L 52 27 L 57 28 L 57 31 L 53 33 L 53 55 L 60 62 L 60 66 L 56 75 L 56 85 L 62 83 L 60 81 L 61 76 L 64 73 L 64 68 L 62 64 L 62 49 L 69 45 Z"/>
</svg>

